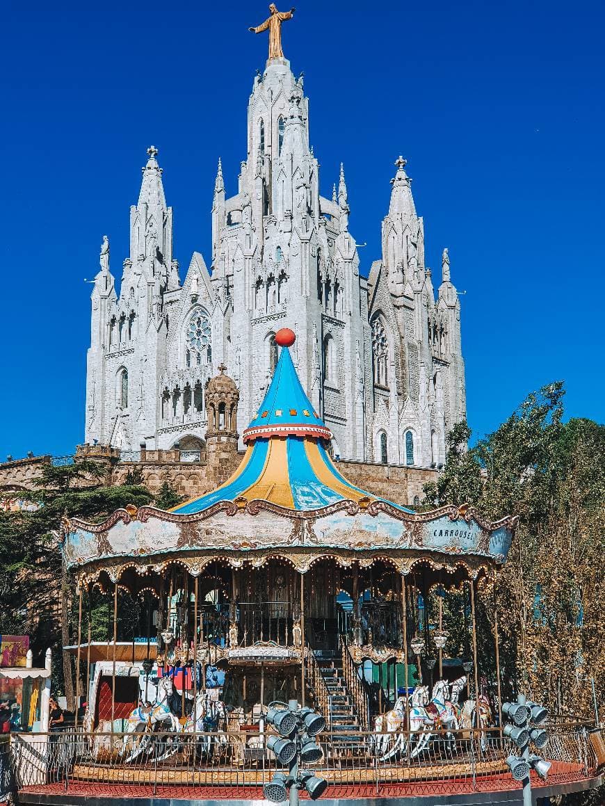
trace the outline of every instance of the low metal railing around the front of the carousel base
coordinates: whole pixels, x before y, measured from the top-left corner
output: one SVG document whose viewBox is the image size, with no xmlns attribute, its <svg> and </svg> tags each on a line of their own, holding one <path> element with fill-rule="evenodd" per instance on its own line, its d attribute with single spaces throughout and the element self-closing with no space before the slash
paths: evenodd
<svg viewBox="0 0 605 806">
<path fill-rule="evenodd" d="M 267 750 L 268 733 L 14 734 L 10 768 L 22 790 L 102 796 L 262 798 L 282 770 Z M 424 734 L 326 731 L 311 767 L 328 796 L 440 795 L 520 786 L 505 758 L 512 746 L 497 729 Z M 422 742 L 422 744 L 421 744 Z M 585 729 L 557 725 L 543 753 L 553 762 L 546 785 L 590 778 L 597 760 Z M 305 765 L 303 765 L 306 768 Z M 539 784 L 539 782 L 536 782 Z M 103 787 L 107 787 L 104 790 Z M 136 788 L 135 788 L 136 787 Z M 190 795 L 188 795 L 190 796 Z"/>
</svg>

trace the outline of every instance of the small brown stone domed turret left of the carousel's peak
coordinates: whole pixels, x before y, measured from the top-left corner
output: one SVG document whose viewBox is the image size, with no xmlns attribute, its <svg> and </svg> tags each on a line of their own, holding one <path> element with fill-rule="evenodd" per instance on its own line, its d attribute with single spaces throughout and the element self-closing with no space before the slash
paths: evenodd
<svg viewBox="0 0 605 806">
<path fill-rule="evenodd" d="M 239 391 L 234 380 L 225 375 L 225 370 L 225 364 L 218 365 L 219 374 L 210 378 L 205 393 L 206 456 L 209 475 L 216 484 L 229 478 L 238 455 Z"/>
</svg>

